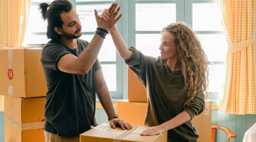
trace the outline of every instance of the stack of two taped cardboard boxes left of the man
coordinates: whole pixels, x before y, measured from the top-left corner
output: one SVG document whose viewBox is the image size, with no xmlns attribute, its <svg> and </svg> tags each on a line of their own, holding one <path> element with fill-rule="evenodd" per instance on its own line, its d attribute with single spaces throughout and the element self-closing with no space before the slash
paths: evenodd
<svg viewBox="0 0 256 142">
<path fill-rule="evenodd" d="M 0 49 L 0 95 L 5 95 L 5 141 L 45 141 L 47 86 L 42 47 Z"/>
</svg>

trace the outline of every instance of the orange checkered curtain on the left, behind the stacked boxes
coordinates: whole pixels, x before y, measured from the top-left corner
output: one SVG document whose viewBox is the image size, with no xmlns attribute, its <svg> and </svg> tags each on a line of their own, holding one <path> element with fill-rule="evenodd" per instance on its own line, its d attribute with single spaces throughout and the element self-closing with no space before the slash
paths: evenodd
<svg viewBox="0 0 256 142">
<path fill-rule="evenodd" d="M 0 0 L 0 49 L 22 45 L 29 8 L 30 0 Z M 0 111 L 4 111 L 3 96 Z"/>
</svg>

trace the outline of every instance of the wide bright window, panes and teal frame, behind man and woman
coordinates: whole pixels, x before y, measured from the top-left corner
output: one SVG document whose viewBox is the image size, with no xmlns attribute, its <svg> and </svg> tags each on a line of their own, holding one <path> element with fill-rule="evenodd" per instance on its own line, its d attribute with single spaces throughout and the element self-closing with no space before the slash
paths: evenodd
<svg viewBox="0 0 256 142">
<path fill-rule="evenodd" d="M 93 9 L 101 13 L 113 2 L 121 6 L 122 18 L 117 27 L 127 47 L 135 46 L 145 55 L 160 55 L 160 31 L 172 22 L 185 21 L 197 31 L 210 66 L 210 99 L 218 99 L 224 78 L 227 42 L 220 21 L 221 12 L 215 0 L 70 0 L 82 23 L 83 35 L 91 41 L 97 24 Z M 23 46 L 26 44 L 47 43 L 47 21 L 43 22 L 38 4 L 52 0 L 32 0 L 28 25 Z M 113 100 L 127 99 L 127 65 L 117 53 L 110 34 L 106 36 L 98 59 L 102 64 L 104 78 Z"/>
</svg>

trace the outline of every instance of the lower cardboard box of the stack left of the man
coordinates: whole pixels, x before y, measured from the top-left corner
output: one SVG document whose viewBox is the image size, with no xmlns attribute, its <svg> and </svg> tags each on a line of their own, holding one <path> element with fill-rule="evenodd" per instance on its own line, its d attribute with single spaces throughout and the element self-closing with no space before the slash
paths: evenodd
<svg viewBox="0 0 256 142">
<path fill-rule="evenodd" d="M 46 97 L 5 96 L 5 142 L 44 142 Z"/>
</svg>

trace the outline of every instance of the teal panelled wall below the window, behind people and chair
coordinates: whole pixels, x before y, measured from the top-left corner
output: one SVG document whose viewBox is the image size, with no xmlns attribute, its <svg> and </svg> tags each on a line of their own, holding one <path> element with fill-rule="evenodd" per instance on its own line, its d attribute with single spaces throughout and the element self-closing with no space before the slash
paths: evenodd
<svg viewBox="0 0 256 142">
<path fill-rule="evenodd" d="M 115 112 L 117 112 L 116 108 Z M 98 124 L 108 123 L 108 117 L 103 108 L 96 108 L 95 117 Z M 219 110 L 212 110 L 212 124 L 228 127 L 236 133 L 236 138 L 231 138 L 230 142 L 243 141 L 245 131 L 247 131 L 255 122 L 256 114 L 224 114 Z M 222 130 L 217 130 L 215 141 L 226 142 L 226 134 Z M 0 142 L 4 142 L 4 112 L 0 112 Z"/>
</svg>

